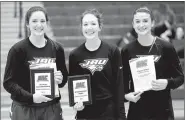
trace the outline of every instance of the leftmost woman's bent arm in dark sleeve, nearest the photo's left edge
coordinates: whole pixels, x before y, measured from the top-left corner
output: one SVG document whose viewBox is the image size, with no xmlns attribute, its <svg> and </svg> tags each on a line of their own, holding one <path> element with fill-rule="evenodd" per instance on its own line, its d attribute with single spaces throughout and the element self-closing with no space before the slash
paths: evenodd
<svg viewBox="0 0 185 120">
<path fill-rule="evenodd" d="M 24 90 L 17 81 L 19 79 L 18 76 L 23 76 L 20 73 L 21 55 L 14 48 L 10 49 L 5 67 L 3 86 L 7 92 L 12 96 L 16 96 L 22 102 L 33 103 L 33 95 Z"/>
</svg>

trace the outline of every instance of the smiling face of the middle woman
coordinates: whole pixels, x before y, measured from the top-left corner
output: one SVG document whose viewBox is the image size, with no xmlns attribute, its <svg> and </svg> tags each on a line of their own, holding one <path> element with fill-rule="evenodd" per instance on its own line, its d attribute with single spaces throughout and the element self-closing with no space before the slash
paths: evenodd
<svg viewBox="0 0 185 120">
<path fill-rule="evenodd" d="M 98 18 L 93 14 L 86 14 L 82 19 L 82 33 L 86 39 L 98 37 L 98 32 L 101 31 Z"/>
</svg>

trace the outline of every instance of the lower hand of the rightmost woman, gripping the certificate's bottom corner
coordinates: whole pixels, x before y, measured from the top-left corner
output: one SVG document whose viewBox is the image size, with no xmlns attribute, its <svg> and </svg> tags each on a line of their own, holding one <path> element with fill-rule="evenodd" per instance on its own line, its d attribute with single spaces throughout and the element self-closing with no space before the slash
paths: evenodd
<svg viewBox="0 0 185 120">
<path fill-rule="evenodd" d="M 131 102 L 134 102 L 136 103 L 140 98 L 141 98 L 141 94 L 143 92 L 130 92 L 128 94 L 125 95 L 125 98 L 128 100 L 128 101 L 131 101 Z"/>
</svg>

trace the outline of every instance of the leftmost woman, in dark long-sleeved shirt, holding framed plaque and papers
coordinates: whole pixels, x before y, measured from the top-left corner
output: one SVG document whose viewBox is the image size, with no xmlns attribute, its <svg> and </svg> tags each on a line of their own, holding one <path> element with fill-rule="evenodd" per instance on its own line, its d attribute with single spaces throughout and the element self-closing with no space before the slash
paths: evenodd
<svg viewBox="0 0 185 120">
<path fill-rule="evenodd" d="M 30 65 L 54 63 L 54 80 L 59 87 L 67 82 L 63 47 L 45 35 L 48 16 L 42 7 L 30 8 L 25 17 L 30 36 L 13 45 L 8 53 L 3 85 L 11 94 L 12 120 L 63 120 L 60 95 L 51 99 L 31 93 Z"/>
</svg>

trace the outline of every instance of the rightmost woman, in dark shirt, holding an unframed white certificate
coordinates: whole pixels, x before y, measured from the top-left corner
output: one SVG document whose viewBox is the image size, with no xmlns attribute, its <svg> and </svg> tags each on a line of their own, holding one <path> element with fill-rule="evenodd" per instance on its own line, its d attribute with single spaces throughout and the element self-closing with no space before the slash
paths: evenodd
<svg viewBox="0 0 185 120">
<path fill-rule="evenodd" d="M 170 90 L 183 84 L 184 75 L 177 53 L 171 43 L 151 34 L 154 18 L 151 11 L 141 7 L 134 12 L 133 28 L 136 41 L 122 48 L 125 98 L 130 102 L 128 120 L 174 120 Z M 153 55 L 156 80 L 152 89 L 134 90 L 129 60 Z"/>
</svg>

